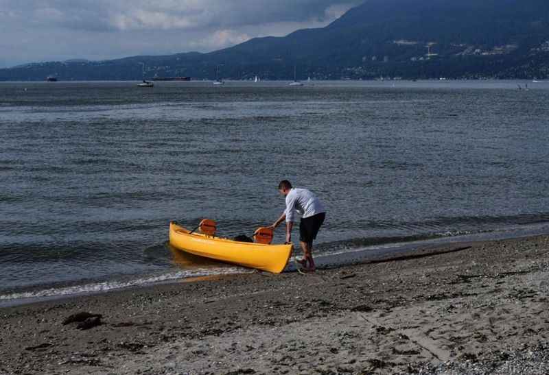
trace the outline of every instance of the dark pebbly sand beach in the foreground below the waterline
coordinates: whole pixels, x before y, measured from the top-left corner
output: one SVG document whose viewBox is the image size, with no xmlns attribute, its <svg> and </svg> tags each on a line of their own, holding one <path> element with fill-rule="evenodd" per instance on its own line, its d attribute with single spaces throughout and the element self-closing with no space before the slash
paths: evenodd
<svg viewBox="0 0 549 375">
<path fill-rule="evenodd" d="M 0 309 L 0 374 L 549 373 L 549 237 L 412 254 Z"/>
</svg>

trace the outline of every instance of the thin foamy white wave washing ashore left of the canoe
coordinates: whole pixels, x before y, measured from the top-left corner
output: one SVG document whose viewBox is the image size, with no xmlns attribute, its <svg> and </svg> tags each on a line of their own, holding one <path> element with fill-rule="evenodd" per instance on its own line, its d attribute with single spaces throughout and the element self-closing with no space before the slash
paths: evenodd
<svg viewBox="0 0 549 375">
<path fill-rule="evenodd" d="M 184 278 L 194 278 L 200 276 L 217 276 L 228 274 L 249 274 L 249 269 L 238 267 L 224 267 L 213 269 L 194 269 L 189 271 L 176 271 L 168 274 L 162 274 L 158 276 L 149 276 L 145 278 L 137 278 L 135 280 L 119 281 L 111 280 L 104 282 L 97 282 L 86 285 L 74 285 L 71 287 L 49 288 L 38 291 L 25 291 L 19 293 L 10 293 L 0 295 L 0 301 L 9 300 L 29 300 L 36 298 L 54 298 L 63 297 L 69 295 L 80 295 L 89 293 L 101 293 L 106 291 L 114 291 L 119 289 L 126 289 L 130 287 L 141 287 L 145 285 L 159 284 L 171 280 L 179 280 Z"/>
</svg>

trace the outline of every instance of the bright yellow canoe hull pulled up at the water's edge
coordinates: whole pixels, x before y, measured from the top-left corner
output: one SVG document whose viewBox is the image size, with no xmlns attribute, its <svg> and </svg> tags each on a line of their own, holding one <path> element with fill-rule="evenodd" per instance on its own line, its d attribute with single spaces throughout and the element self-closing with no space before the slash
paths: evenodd
<svg viewBox="0 0 549 375">
<path fill-rule="evenodd" d="M 190 233 L 175 221 L 170 223 L 170 245 L 178 250 L 217 261 L 280 274 L 292 255 L 292 245 L 264 245 Z"/>
</svg>

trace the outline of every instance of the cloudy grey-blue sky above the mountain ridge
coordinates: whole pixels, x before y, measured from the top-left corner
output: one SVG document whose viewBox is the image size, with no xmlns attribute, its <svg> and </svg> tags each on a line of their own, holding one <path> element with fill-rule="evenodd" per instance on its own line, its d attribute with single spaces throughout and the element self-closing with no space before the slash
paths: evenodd
<svg viewBox="0 0 549 375">
<path fill-rule="evenodd" d="M 0 67 L 207 52 L 323 27 L 364 0 L 0 0 Z"/>
</svg>

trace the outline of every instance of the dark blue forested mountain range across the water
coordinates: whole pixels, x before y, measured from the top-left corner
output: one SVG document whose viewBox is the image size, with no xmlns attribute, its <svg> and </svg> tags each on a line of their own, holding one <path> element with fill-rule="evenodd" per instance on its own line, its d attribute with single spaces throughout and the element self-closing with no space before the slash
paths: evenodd
<svg viewBox="0 0 549 375">
<path fill-rule="evenodd" d="M 547 0 L 368 0 L 327 27 L 254 38 L 210 53 L 40 62 L 0 80 L 549 77 Z M 218 73 L 220 72 L 220 73 Z"/>
</svg>

